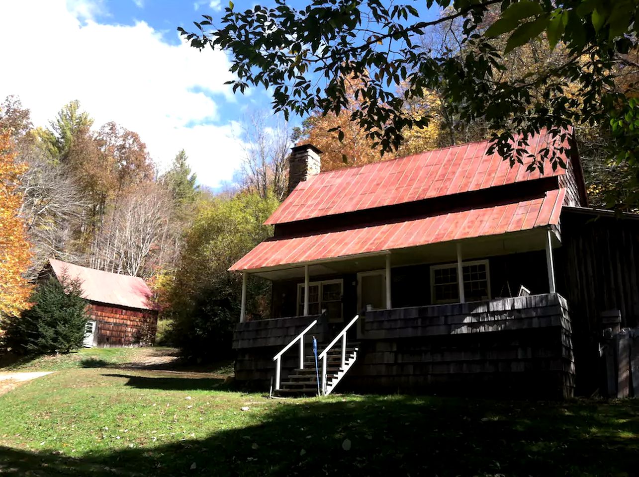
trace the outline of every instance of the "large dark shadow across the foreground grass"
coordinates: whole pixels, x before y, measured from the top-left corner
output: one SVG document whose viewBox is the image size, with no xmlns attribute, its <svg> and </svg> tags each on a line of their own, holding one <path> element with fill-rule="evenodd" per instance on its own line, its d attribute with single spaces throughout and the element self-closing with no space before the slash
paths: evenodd
<svg viewBox="0 0 639 477">
<path fill-rule="evenodd" d="M 254 425 L 82 458 L 0 448 L 7 476 L 637 475 L 639 403 L 282 402 Z M 224 423 L 222 423 L 224 424 Z M 345 444 L 350 441 L 350 447 Z"/>
</svg>

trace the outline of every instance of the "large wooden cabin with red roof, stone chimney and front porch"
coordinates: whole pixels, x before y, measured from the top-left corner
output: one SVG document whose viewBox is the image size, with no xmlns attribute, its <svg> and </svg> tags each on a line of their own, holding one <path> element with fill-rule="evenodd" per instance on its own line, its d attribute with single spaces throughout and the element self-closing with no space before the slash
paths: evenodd
<svg viewBox="0 0 639 477">
<path fill-rule="evenodd" d="M 602 314 L 639 317 L 638 217 L 588 208 L 572 132 L 528 142 L 566 167 L 511 167 L 482 141 L 321 172 L 319 149 L 293 148 L 272 238 L 230 268 L 236 379 L 279 395 L 596 390 Z M 272 282 L 271 319 L 246 314 L 252 276 Z"/>
</svg>

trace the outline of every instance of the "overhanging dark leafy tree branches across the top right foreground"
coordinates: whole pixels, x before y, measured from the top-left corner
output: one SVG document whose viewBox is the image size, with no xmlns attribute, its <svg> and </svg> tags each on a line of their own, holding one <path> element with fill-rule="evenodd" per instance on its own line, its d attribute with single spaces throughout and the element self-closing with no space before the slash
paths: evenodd
<svg viewBox="0 0 639 477">
<path fill-rule="evenodd" d="M 427 1 L 427 7 L 433 4 Z M 449 1 L 436 4 L 446 8 Z M 497 5 L 500 15 L 492 21 L 491 6 Z M 271 88 L 273 109 L 286 117 L 348 111 L 345 79 L 361 80 L 355 91 L 361 107 L 350 117 L 381 151 L 399 148 L 405 130 L 428 125 L 428 116 L 416 119 L 404 104 L 433 89 L 461 121 L 486 124 L 491 150 L 512 163 L 526 160 L 531 169 L 547 162 L 562 166 L 564 152 L 548 148 L 528 156 L 522 146 L 532 133 L 548 128 L 558 144 L 568 126 L 607 124 L 627 104 L 614 78 L 637 66 L 629 52 L 639 41 L 639 5 L 629 0 L 461 0 L 435 20 L 420 19 L 422 13 L 412 4 L 381 0 L 312 0 L 304 8 L 276 0 L 273 8 L 258 4 L 245 11 L 230 3 L 219 29 L 208 31 L 212 17 L 204 15 L 194 32 L 178 31 L 193 47 L 231 52 L 233 90 Z M 463 19 L 454 54 L 417 47 L 429 27 L 454 19 Z M 542 33 L 551 48 L 565 45 L 566 60 L 530 77 L 500 77 L 504 54 Z M 495 46 L 505 38 L 503 49 Z M 568 80 L 578 85 L 578 95 L 566 91 Z M 402 93 L 391 87 L 403 83 Z M 626 153 L 636 144 L 615 140 L 611 151 L 619 148 Z"/>
</svg>

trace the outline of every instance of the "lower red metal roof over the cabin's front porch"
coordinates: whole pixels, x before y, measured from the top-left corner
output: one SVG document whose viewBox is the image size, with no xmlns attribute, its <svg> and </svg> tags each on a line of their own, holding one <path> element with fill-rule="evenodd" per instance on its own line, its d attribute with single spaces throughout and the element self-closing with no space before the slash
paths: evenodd
<svg viewBox="0 0 639 477">
<path fill-rule="evenodd" d="M 263 241 L 229 270 L 252 270 L 557 225 L 566 189 L 544 197 L 370 227 Z"/>
</svg>

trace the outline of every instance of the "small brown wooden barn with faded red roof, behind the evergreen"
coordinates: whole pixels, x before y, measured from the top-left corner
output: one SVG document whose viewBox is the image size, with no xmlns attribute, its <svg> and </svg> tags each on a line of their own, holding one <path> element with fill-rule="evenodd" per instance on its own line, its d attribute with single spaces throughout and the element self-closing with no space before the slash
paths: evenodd
<svg viewBox="0 0 639 477">
<path fill-rule="evenodd" d="M 89 302 L 85 347 L 150 345 L 157 331 L 151 290 L 139 276 L 121 275 L 50 259 L 45 275 L 79 280 Z"/>
</svg>

